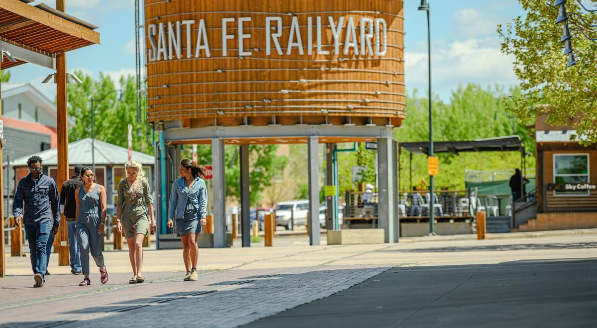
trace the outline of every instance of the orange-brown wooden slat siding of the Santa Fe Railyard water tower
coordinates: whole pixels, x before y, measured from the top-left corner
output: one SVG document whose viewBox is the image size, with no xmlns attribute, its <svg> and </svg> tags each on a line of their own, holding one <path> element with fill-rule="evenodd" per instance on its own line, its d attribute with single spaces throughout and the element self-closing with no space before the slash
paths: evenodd
<svg viewBox="0 0 597 328">
<path fill-rule="evenodd" d="M 277 123 L 284 125 L 291 125 L 298 123 L 298 115 L 303 115 L 303 123 L 306 124 L 321 124 L 325 121 L 324 115 L 333 116 L 354 116 L 351 123 L 356 125 L 364 125 L 368 123 L 368 117 L 377 117 L 374 124 L 386 125 L 392 123 L 395 126 L 401 124 L 402 119 L 405 118 L 404 102 L 405 102 L 405 86 L 404 86 L 404 61 L 387 60 L 387 58 L 404 58 L 404 33 L 396 32 L 394 30 L 403 31 L 404 21 L 401 17 L 390 16 L 387 14 L 362 14 L 362 13 L 321 13 L 321 14 L 299 14 L 299 24 L 301 25 L 301 38 L 303 44 L 307 42 L 307 28 L 306 17 L 313 17 L 313 44 L 316 42 L 315 17 L 322 17 L 322 24 L 328 25 L 327 17 L 332 16 L 337 19 L 341 16 L 355 18 L 355 23 L 358 24 L 361 17 L 383 17 L 388 24 L 387 34 L 387 54 L 384 60 L 355 60 L 364 58 L 361 56 L 352 55 L 352 50 L 349 55 L 316 55 L 316 47 L 313 47 L 313 55 L 307 55 L 307 48 L 304 48 L 304 55 L 298 55 L 296 49 L 293 50 L 292 55 L 279 56 L 275 48 L 272 55 L 265 55 L 265 30 L 264 29 L 247 29 L 245 33 L 251 33 L 251 39 L 245 40 L 245 49 L 253 51 L 253 57 L 272 58 L 274 60 L 260 60 L 257 58 L 245 57 L 244 60 L 238 57 L 221 57 L 221 18 L 224 17 L 253 17 L 253 20 L 245 24 L 247 27 L 264 27 L 266 16 L 280 16 L 282 17 L 282 24 L 285 26 L 284 35 L 280 39 L 282 46 L 287 43 L 290 35 L 290 24 L 292 17 L 285 14 L 276 13 L 303 13 L 313 11 L 380 11 L 382 13 L 395 13 L 402 15 L 402 1 L 399 0 L 372 0 L 372 1 L 348 1 L 348 0 L 333 0 L 333 1 L 241 1 L 241 0 L 227 0 L 227 1 L 174 1 L 174 2 L 160 2 L 158 0 L 148 0 L 145 7 L 146 26 L 148 24 L 158 24 L 160 22 L 167 23 L 177 20 L 194 19 L 195 30 L 192 32 L 192 44 L 195 44 L 198 31 L 196 26 L 199 19 L 205 20 L 205 25 L 208 29 L 208 36 L 210 40 L 211 58 L 186 58 L 186 30 L 184 26 L 181 29 L 181 54 L 183 58 L 176 60 L 160 60 L 152 63 L 147 63 L 147 85 L 148 85 L 148 109 L 147 117 L 150 122 L 164 120 L 164 119 L 191 119 L 191 126 L 204 127 L 214 125 L 214 117 L 218 117 L 219 125 L 236 126 L 242 124 L 241 119 L 224 120 L 224 117 L 244 117 L 250 116 L 251 125 L 267 125 L 271 122 L 270 116 L 276 117 L 292 116 L 287 120 L 277 120 Z M 210 14 L 177 14 L 177 13 L 196 13 L 206 11 L 255 11 L 267 12 L 272 14 L 243 14 L 243 13 L 210 13 Z M 164 17 L 167 15 L 173 15 Z M 160 16 L 156 19 L 156 16 Z M 344 22 L 346 25 L 346 21 Z M 229 31 L 236 32 L 238 24 L 233 23 L 229 27 Z M 167 24 L 166 24 L 167 27 Z M 327 35 L 323 35 L 322 44 L 333 44 L 333 38 L 329 27 L 323 27 Z M 167 31 L 166 31 L 167 32 Z M 343 33 L 344 34 L 344 33 Z M 357 31 L 357 37 L 359 31 Z M 342 35 L 344 36 L 344 35 Z M 156 38 L 156 37 L 154 37 Z M 149 48 L 149 39 L 146 38 L 146 48 Z M 340 42 L 343 44 L 343 38 Z M 235 37 L 233 42 L 229 42 L 230 48 L 229 56 L 238 53 L 236 45 L 238 45 L 238 38 Z M 397 45 L 392 47 L 390 45 Z M 272 44 L 273 46 L 273 44 Z M 253 48 L 260 48 L 260 51 L 254 51 Z M 332 50 L 333 47 L 325 47 L 324 49 Z M 340 49 L 343 46 L 340 45 Z M 283 49 L 285 51 L 285 49 Z M 195 49 L 192 50 L 194 56 Z M 147 54 L 146 54 L 147 56 Z M 290 60 L 313 60 L 313 59 L 337 59 L 338 57 L 349 58 L 349 60 L 341 62 L 315 62 L 315 61 L 282 61 L 275 59 L 290 59 Z M 344 69 L 361 69 L 374 70 L 378 72 L 336 72 L 333 70 L 326 70 L 321 72 L 319 70 L 285 70 L 289 68 L 311 68 L 318 69 L 319 67 L 330 68 L 344 68 Z M 215 72 L 221 69 L 223 73 L 185 73 L 185 72 Z M 257 72 L 226 72 L 230 69 L 263 69 Z M 279 69 L 279 70 L 276 70 Z M 384 74 L 381 72 L 398 72 L 396 75 Z M 300 79 L 307 80 L 354 80 L 354 81 L 391 81 L 391 84 L 384 83 L 361 83 L 361 82 L 275 82 L 275 81 L 299 81 Z M 220 84 L 204 84 L 204 85 L 179 85 L 181 83 L 203 83 L 203 82 L 223 82 Z M 235 83 L 241 81 L 264 81 L 264 83 Z M 163 88 L 164 84 L 170 85 L 168 88 Z M 290 93 L 281 94 L 281 89 L 288 90 L 329 90 L 330 92 L 315 94 L 315 93 Z M 376 94 L 341 94 L 338 91 L 382 91 L 395 92 L 398 95 L 376 95 Z M 196 95 L 200 93 L 210 92 L 230 92 L 229 94 L 212 94 L 212 95 Z M 245 92 L 245 93 L 243 93 Z M 268 93 L 260 93 L 268 92 Z M 159 99 L 156 96 L 160 96 Z M 363 100 L 370 99 L 370 103 L 365 103 Z M 297 101 L 281 101 L 272 103 L 264 103 L 264 99 L 270 100 L 288 100 L 296 99 Z M 310 101 L 307 101 L 310 100 Z M 315 101 L 312 101 L 315 100 Z M 318 101 L 322 100 L 322 101 Z M 337 101 L 323 101 L 323 100 L 337 100 Z M 358 100 L 360 103 L 349 101 Z M 376 101 L 392 101 L 394 103 L 378 103 Z M 207 103 L 219 101 L 221 103 Z M 234 101 L 234 102 L 233 102 Z M 253 109 L 245 109 L 245 104 L 253 105 Z M 165 105 L 165 106 L 164 106 Z M 313 108 L 275 108 L 272 106 L 313 106 Z M 363 109 L 347 109 L 348 105 L 364 106 Z M 257 106 L 268 106 L 267 108 Z M 346 112 L 333 112 L 333 109 L 328 109 L 327 114 L 321 113 L 321 106 L 338 106 L 342 107 L 339 110 Z M 216 109 L 217 107 L 239 107 L 238 109 Z M 388 109 L 371 109 L 368 107 L 387 107 Z M 325 108 L 325 107 L 323 107 Z M 217 111 L 226 112 L 225 115 L 217 115 Z M 276 112 L 270 114 L 263 114 L 260 112 Z M 297 111 L 313 111 L 313 113 L 297 113 Z M 359 112 L 361 111 L 361 112 Z M 251 117 L 253 116 L 253 117 Z M 344 124 L 343 119 L 332 120 L 334 124 Z"/>
</svg>

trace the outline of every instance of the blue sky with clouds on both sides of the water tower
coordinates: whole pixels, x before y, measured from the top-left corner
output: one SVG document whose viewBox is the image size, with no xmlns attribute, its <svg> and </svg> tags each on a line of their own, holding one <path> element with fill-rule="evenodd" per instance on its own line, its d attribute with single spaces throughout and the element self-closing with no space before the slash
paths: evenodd
<svg viewBox="0 0 597 328">
<path fill-rule="evenodd" d="M 36 0 L 55 7 L 54 0 Z M 431 7 L 432 90 L 444 101 L 469 82 L 482 86 L 517 83 L 513 57 L 500 51 L 497 24 L 523 15 L 516 0 L 429 0 Z M 404 1 L 405 79 L 408 91 L 427 92 L 427 18 L 420 0 Z M 96 26 L 101 45 L 67 54 L 67 71 L 100 72 L 118 80 L 135 73 L 134 0 L 66 0 L 66 13 Z M 30 82 L 51 100 L 56 88 L 41 81 L 51 72 L 35 64 L 10 69 L 11 82 Z"/>
</svg>

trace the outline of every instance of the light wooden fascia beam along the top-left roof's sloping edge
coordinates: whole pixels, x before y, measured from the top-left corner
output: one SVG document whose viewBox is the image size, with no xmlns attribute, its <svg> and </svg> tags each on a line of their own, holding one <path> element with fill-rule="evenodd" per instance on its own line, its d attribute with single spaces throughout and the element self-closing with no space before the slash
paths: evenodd
<svg viewBox="0 0 597 328">
<path fill-rule="evenodd" d="M 2 0 L 0 1 L 0 8 L 22 16 L 23 18 L 44 24 L 45 26 L 59 30 L 60 32 L 76 36 L 79 39 L 84 39 L 94 44 L 100 44 L 100 33 L 48 13 L 47 11 L 33 7 L 32 5 L 27 5 L 19 0 Z"/>
</svg>

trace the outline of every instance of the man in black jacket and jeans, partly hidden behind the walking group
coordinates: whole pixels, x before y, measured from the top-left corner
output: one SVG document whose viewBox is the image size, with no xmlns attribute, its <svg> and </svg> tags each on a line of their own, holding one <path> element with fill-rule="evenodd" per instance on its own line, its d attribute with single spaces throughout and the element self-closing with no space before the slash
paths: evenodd
<svg viewBox="0 0 597 328">
<path fill-rule="evenodd" d="M 62 184 L 60 190 L 60 206 L 66 218 L 66 229 L 69 236 L 70 273 L 82 274 L 81 250 L 79 250 L 78 233 L 76 231 L 76 193 L 77 188 L 83 185 L 81 180 L 82 165 L 75 165 L 73 177 Z M 48 256 L 50 258 L 50 256 Z"/>
</svg>

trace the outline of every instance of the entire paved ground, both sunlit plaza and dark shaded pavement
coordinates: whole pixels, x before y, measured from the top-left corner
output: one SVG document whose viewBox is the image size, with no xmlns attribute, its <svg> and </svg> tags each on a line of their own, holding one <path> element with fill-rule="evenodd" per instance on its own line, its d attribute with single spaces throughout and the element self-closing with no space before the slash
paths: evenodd
<svg viewBox="0 0 597 328">
<path fill-rule="evenodd" d="M 533 238 L 512 234 L 516 238 L 481 241 L 431 238 L 394 245 L 202 249 L 201 275 L 193 283 L 181 281 L 181 250 L 146 252 L 144 284 L 127 284 L 127 252 L 106 252 L 108 284 L 98 284 L 99 274 L 92 272 L 92 286 L 76 286 L 81 276 L 67 274 L 68 267 L 53 262 L 53 274 L 41 289 L 32 288 L 29 258 L 9 257 L 11 276 L 0 279 L 0 327 L 236 327 L 253 321 L 279 326 L 268 323 L 278 320 L 272 315 L 301 317 L 293 313 L 314 306 L 302 318 L 315 319 L 312 326 L 318 327 L 334 326 L 344 317 L 377 326 L 460 326 L 474 322 L 465 319 L 476 319 L 483 311 L 490 315 L 490 321 L 480 321 L 484 326 L 503 326 L 500 323 L 518 322 L 510 318 L 541 322 L 570 308 L 578 320 L 570 322 L 582 326 L 587 321 L 581 320 L 592 319 L 586 317 L 592 314 L 586 307 L 597 308 L 585 302 L 597 296 L 594 232 Z M 348 304 L 340 306 L 338 298 Z M 330 313 L 335 315 L 327 317 Z M 436 321 L 425 321 L 434 315 Z M 304 326 L 300 320 L 284 325 Z"/>
</svg>

